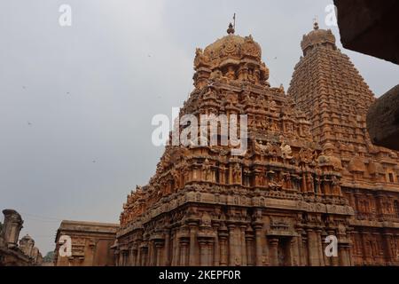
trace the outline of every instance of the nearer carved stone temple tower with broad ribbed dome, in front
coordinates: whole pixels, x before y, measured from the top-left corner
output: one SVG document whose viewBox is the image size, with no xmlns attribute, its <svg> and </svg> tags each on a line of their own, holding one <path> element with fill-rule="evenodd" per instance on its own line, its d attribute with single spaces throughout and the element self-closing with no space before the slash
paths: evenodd
<svg viewBox="0 0 399 284">
<path fill-rule="evenodd" d="M 341 191 L 342 164 L 333 139 L 318 143 L 311 134 L 313 116 L 295 106 L 299 88 L 289 97 L 284 88 L 270 87 L 269 69 L 253 37 L 235 35 L 232 26 L 227 32 L 196 51 L 194 90 L 180 117 L 192 114 L 199 120 L 184 123 L 179 134 L 200 124 L 201 114 L 227 122 L 242 115 L 246 119 L 237 122 L 246 151 L 232 154 L 233 145 L 222 143 L 231 133 L 222 127 L 213 136 L 190 135 L 192 140 L 205 136 L 207 142 L 215 138 L 217 145 L 191 140 L 166 146 L 155 175 L 123 204 L 116 264 L 353 264 L 354 209 Z M 329 38 L 325 50 L 338 52 Z M 305 59 L 317 48 L 310 44 Z M 318 83 L 328 82 L 317 81 L 314 88 Z M 325 254 L 325 238 L 331 235 L 338 256 Z"/>
</svg>

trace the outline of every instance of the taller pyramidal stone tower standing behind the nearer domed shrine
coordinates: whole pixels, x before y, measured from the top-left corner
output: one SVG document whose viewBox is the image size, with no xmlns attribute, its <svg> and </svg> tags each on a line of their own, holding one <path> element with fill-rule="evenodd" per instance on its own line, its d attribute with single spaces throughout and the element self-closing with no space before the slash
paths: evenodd
<svg viewBox="0 0 399 284">
<path fill-rule="evenodd" d="M 399 264 L 399 160 L 368 137 L 372 91 L 337 49 L 331 30 L 315 23 L 301 49 L 288 93 L 323 149 L 319 165 L 332 162 L 340 169 L 341 191 L 356 213 L 349 222 L 353 264 Z"/>
</svg>

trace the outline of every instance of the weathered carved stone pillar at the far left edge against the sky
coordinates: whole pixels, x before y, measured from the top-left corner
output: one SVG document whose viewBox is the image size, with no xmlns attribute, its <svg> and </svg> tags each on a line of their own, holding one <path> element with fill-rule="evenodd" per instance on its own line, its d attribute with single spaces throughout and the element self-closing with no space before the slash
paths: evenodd
<svg viewBox="0 0 399 284">
<path fill-rule="evenodd" d="M 18 239 L 20 237 L 20 230 L 22 229 L 22 218 L 20 214 L 13 209 L 4 209 L 4 225 L 1 232 L 4 238 L 4 243 L 9 248 L 18 246 Z"/>
</svg>

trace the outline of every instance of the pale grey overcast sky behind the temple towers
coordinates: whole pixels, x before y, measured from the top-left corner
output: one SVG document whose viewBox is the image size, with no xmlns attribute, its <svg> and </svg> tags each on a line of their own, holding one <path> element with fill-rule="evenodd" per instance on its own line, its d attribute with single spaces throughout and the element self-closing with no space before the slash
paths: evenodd
<svg viewBox="0 0 399 284">
<path fill-rule="evenodd" d="M 59 26 L 59 6 L 72 26 Z M 0 209 L 17 209 L 43 255 L 61 219 L 118 222 L 122 203 L 153 175 L 154 114 L 171 115 L 192 91 L 192 61 L 226 34 L 262 45 L 270 83 L 286 90 L 301 37 L 332 0 L 2 0 Z M 339 39 L 339 31 L 332 27 Z M 340 45 L 340 43 L 338 44 Z M 343 50 L 372 91 L 399 67 Z M 1 219 L 1 218 L 0 218 Z"/>
</svg>

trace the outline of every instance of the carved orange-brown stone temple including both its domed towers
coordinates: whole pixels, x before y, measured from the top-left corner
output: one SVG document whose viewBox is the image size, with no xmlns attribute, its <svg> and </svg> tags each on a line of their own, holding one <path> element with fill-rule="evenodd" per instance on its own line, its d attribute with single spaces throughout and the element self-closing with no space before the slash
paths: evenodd
<svg viewBox="0 0 399 284">
<path fill-rule="evenodd" d="M 372 145 L 374 96 L 331 30 L 303 36 L 287 93 L 270 86 L 253 37 L 227 33 L 197 49 L 180 115 L 246 114 L 247 151 L 166 146 L 123 204 L 115 264 L 399 264 L 397 154 Z"/>
</svg>

